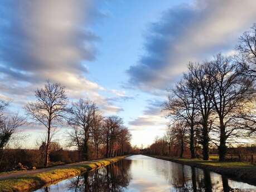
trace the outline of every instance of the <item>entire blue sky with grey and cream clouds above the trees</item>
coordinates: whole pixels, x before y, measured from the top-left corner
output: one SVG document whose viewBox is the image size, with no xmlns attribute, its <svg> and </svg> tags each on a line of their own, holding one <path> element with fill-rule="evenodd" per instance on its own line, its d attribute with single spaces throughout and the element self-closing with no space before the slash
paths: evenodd
<svg viewBox="0 0 256 192">
<path fill-rule="evenodd" d="M 0 97 L 25 115 L 36 88 L 65 85 L 70 101 L 89 98 L 118 115 L 132 145 L 162 136 L 167 89 L 189 62 L 230 55 L 256 22 L 256 1 L 0 1 Z M 66 141 L 68 127 L 57 134 Z M 22 127 L 32 147 L 45 129 Z"/>
</svg>

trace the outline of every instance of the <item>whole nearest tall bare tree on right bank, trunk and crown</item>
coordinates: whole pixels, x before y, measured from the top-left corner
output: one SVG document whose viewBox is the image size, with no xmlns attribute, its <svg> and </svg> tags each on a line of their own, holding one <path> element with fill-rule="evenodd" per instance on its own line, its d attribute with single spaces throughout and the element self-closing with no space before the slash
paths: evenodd
<svg viewBox="0 0 256 192">
<path fill-rule="evenodd" d="M 224 161 L 227 152 L 226 142 L 230 137 L 239 137 L 239 126 L 235 117 L 253 99 L 253 80 L 243 77 L 236 71 L 236 64 L 230 57 L 218 54 L 207 65 L 211 76 L 211 102 L 218 116 L 219 125 L 213 131 L 219 133 L 219 160 Z"/>
</svg>

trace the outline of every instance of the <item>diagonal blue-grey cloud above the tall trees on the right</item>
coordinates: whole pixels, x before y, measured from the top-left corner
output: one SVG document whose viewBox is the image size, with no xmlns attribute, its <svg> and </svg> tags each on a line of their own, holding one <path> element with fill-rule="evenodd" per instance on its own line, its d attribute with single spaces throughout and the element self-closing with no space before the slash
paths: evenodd
<svg viewBox="0 0 256 192">
<path fill-rule="evenodd" d="M 234 48 L 256 17 L 256 2 L 197 0 L 168 9 L 151 23 L 146 53 L 128 69 L 132 86 L 151 92 L 167 88 L 196 62 Z"/>
</svg>

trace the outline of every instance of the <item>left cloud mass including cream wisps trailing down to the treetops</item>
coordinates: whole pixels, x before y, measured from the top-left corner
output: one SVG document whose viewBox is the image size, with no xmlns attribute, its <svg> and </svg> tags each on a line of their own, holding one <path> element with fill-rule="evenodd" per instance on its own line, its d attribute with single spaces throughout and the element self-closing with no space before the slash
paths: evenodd
<svg viewBox="0 0 256 192">
<path fill-rule="evenodd" d="M 122 110 L 99 95 L 104 87 L 86 78 L 86 63 L 95 60 L 101 41 L 91 28 L 105 17 L 94 2 L 0 2 L 1 94 L 22 106 L 50 80 L 65 85 L 71 99 L 89 97 L 102 109 Z"/>
</svg>

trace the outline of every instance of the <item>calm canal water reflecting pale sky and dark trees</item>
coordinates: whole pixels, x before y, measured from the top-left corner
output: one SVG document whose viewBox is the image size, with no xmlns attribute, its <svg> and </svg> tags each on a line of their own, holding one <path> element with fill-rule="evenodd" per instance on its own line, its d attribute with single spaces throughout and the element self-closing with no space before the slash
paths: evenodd
<svg viewBox="0 0 256 192">
<path fill-rule="evenodd" d="M 240 190 L 234 190 L 240 189 Z M 114 191 L 114 192 L 178 192 L 178 191 L 256 191 L 256 186 L 230 180 L 220 174 L 191 168 L 143 155 L 100 168 L 89 176 L 79 176 L 37 190 Z"/>
</svg>

